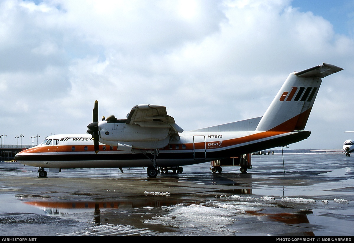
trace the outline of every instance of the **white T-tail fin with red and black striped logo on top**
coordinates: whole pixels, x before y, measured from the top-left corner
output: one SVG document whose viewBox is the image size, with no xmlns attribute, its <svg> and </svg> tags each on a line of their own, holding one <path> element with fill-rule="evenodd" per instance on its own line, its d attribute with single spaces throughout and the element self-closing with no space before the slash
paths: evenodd
<svg viewBox="0 0 354 243">
<path fill-rule="evenodd" d="M 256 131 L 304 130 L 322 79 L 343 70 L 323 63 L 287 77 Z"/>
</svg>

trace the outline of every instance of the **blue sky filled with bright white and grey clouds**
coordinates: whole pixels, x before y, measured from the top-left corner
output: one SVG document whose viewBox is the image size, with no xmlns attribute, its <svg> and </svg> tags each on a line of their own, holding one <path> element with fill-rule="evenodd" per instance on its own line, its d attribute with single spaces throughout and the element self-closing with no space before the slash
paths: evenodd
<svg viewBox="0 0 354 243">
<path fill-rule="evenodd" d="M 95 100 L 118 119 L 166 106 L 185 131 L 259 117 L 289 73 L 324 62 L 344 70 L 290 149 L 354 138 L 353 1 L 1 0 L 1 143 L 85 133 Z"/>
</svg>

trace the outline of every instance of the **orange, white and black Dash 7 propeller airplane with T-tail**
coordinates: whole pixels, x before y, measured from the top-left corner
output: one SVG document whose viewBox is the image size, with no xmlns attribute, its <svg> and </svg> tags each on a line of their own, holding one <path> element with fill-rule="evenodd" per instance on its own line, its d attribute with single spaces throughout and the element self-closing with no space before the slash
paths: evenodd
<svg viewBox="0 0 354 243">
<path fill-rule="evenodd" d="M 165 106 L 151 104 L 134 106 L 126 119 L 110 115 L 98 121 L 95 101 L 86 134 L 48 136 L 42 144 L 17 153 L 15 159 L 39 167 L 39 177 L 47 177 L 45 168 L 53 172 L 119 168 L 123 172 L 123 167 L 147 167 L 148 176 L 155 178 L 159 168 L 182 172 L 185 165 L 287 146 L 310 136 L 304 128 L 321 78 L 341 70 L 323 63 L 292 72 L 262 117 L 192 131 L 179 127 Z"/>
</svg>

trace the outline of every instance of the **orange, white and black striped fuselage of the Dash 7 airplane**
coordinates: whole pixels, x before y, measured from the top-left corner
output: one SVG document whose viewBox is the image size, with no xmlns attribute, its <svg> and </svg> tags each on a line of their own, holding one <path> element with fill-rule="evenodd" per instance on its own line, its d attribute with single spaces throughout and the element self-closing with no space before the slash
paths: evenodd
<svg viewBox="0 0 354 243">
<path fill-rule="evenodd" d="M 182 132 L 181 138 L 157 150 L 157 166 L 199 164 L 301 141 L 310 135 L 297 132 Z M 90 134 L 52 135 L 16 155 L 16 161 L 43 168 L 148 167 L 153 150 L 118 150 L 99 144 L 95 154 Z"/>
</svg>

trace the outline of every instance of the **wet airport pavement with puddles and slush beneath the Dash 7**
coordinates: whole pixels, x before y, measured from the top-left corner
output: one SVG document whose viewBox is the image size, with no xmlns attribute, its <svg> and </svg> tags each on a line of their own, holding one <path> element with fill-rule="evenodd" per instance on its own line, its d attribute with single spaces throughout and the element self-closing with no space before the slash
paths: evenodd
<svg viewBox="0 0 354 243">
<path fill-rule="evenodd" d="M 353 236 L 354 156 L 252 156 L 148 178 L 143 168 L 48 172 L 0 163 L 2 236 Z M 285 173 L 284 173 L 285 170 Z"/>
</svg>

